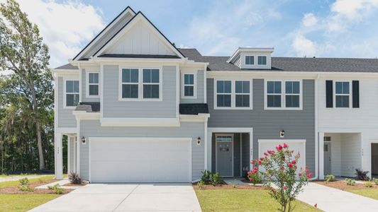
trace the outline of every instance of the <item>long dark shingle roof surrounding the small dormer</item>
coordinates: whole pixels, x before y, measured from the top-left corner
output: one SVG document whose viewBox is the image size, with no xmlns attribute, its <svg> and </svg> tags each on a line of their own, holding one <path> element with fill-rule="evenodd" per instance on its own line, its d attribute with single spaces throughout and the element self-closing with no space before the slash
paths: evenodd
<svg viewBox="0 0 378 212">
<path fill-rule="evenodd" d="M 191 60 L 209 62 L 208 71 L 378 72 L 378 59 L 272 57 L 272 69 L 240 69 L 227 62 L 230 57 L 202 56 L 197 49 L 180 51 Z"/>
</svg>

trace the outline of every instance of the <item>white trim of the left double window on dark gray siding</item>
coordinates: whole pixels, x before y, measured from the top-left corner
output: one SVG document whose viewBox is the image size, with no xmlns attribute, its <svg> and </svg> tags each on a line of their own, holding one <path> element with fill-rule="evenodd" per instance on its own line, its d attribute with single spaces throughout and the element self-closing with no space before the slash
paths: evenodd
<svg viewBox="0 0 378 212">
<path fill-rule="evenodd" d="M 218 94 L 217 91 L 216 91 L 216 84 L 218 81 L 231 81 L 231 107 L 218 107 L 218 102 L 217 102 L 217 98 L 216 98 L 216 95 Z M 235 81 L 249 81 L 250 82 L 250 107 L 235 107 L 236 105 L 236 101 L 235 101 L 235 96 L 237 94 L 240 94 L 240 95 L 243 95 L 243 93 L 236 93 L 235 92 Z M 252 110 L 253 109 L 253 105 L 252 105 L 252 102 L 253 102 L 253 96 L 252 96 L 252 79 L 214 79 L 214 110 Z M 226 94 L 227 95 L 227 94 Z M 244 95 L 247 95 L 247 94 L 244 94 Z"/>
</svg>

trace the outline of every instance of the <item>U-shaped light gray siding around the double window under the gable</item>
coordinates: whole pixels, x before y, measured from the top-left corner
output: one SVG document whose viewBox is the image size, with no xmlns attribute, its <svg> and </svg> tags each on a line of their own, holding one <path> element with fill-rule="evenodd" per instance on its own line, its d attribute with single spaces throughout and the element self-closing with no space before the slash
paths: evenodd
<svg viewBox="0 0 378 212">
<path fill-rule="evenodd" d="M 176 117 L 176 67 L 162 66 L 162 101 L 119 101 L 119 66 L 104 65 L 104 117 Z"/>
</svg>

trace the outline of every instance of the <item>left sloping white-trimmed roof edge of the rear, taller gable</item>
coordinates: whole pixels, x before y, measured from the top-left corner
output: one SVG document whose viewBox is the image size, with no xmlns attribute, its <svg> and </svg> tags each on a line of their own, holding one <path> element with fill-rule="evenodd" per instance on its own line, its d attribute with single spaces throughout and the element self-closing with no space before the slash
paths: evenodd
<svg viewBox="0 0 378 212">
<path fill-rule="evenodd" d="M 116 25 L 116 23 L 121 22 L 120 20 L 122 18 L 125 18 L 128 14 L 131 14 L 132 16 L 135 16 L 135 11 L 133 11 L 133 8 L 131 8 L 130 6 L 127 6 L 121 13 L 118 14 L 118 16 L 116 16 L 116 18 L 114 18 L 113 20 L 111 20 L 111 23 L 109 23 L 108 25 L 106 25 L 106 27 L 103 30 L 101 30 L 101 32 L 98 35 L 96 35 L 96 37 L 94 37 L 94 39 L 91 40 L 91 42 L 89 42 L 88 45 L 85 46 L 84 49 L 82 49 L 82 51 L 80 51 L 79 54 L 77 54 L 74 57 L 73 60 L 75 60 L 75 59 L 82 59 L 81 57 L 89 49 L 89 47 L 91 47 L 91 45 L 98 44 L 99 41 L 101 40 L 101 38 L 104 37 L 104 35 L 106 34 L 106 32 L 108 30 L 111 30 L 114 27 L 114 25 Z"/>
</svg>

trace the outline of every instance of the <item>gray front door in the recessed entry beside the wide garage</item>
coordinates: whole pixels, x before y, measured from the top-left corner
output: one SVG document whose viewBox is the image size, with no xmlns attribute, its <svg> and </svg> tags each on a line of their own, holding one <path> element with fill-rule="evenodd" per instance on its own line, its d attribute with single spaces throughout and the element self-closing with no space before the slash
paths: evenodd
<svg viewBox="0 0 378 212">
<path fill-rule="evenodd" d="M 233 176 L 233 134 L 216 136 L 216 172 L 223 177 Z"/>
</svg>

